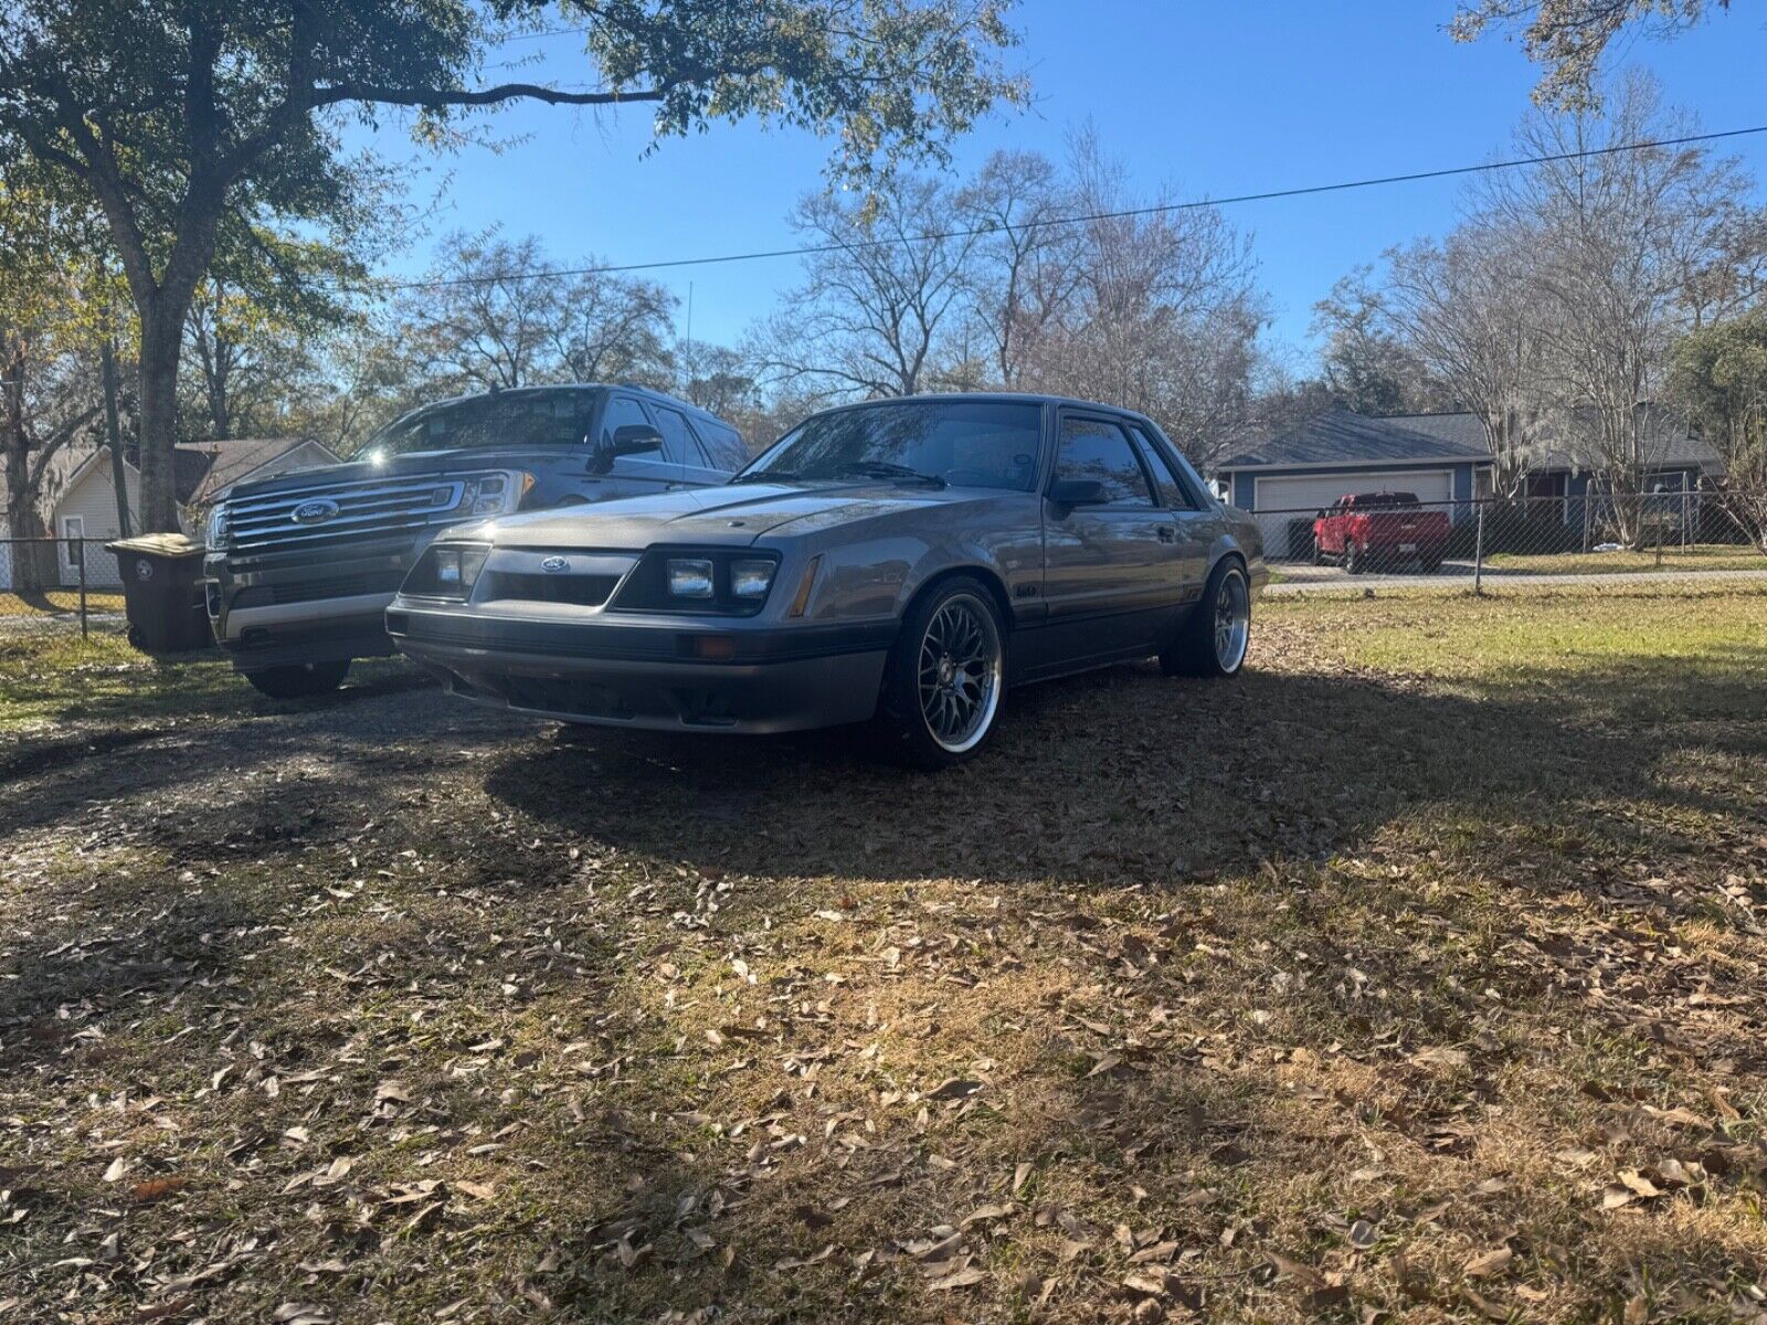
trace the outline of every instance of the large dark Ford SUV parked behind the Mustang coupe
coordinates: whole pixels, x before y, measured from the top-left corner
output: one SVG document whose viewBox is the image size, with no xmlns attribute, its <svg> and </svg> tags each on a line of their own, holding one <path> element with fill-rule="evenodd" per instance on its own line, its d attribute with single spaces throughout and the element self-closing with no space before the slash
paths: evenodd
<svg viewBox="0 0 1767 1325">
<path fill-rule="evenodd" d="M 428 405 L 348 465 L 242 482 L 209 514 L 209 620 L 274 698 L 336 687 L 391 654 L 382 617 L 449 525 L 717 484 L 747 459 L 730 424 L 643 387 L 523 387 Z"/>
</svg>

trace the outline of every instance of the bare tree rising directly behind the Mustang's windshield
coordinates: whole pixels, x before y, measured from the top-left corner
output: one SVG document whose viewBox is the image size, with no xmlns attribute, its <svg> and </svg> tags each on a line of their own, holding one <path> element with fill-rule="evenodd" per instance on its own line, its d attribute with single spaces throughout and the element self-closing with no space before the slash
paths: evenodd
<svg viewBox="0 0 1767 1325">
<path fill-rule="evenodd" d="M 942 182 L 901 175 L 868 201 L 816 193 L 792 226 L 818 251 L 753 353 L 776 389 L 829 399 L 929 385 L 967 295 L 972 233 Z"/>
</svg>

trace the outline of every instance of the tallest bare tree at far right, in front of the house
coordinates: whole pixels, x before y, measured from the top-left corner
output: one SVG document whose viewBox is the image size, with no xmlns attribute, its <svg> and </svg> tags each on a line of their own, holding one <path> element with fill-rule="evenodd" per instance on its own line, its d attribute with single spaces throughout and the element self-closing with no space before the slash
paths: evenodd
<svg viewBox="0 0 1767 1325">
<path fill-rule="evenodd" d="M 1558 426 L 1612 491 L 1622 541 L 1643 537 L 1640 500 L 1666 431 L 1643 408 L 1663 394 L 1670 343 L 1693 325 L 1689 272 L 1726 261 L 1726 226 L 1748 178 L 1696 147 L 1566 155 L 1680 136 L 1645 76 L 1604 115 L 1536 113 L 1530 155 L 1560 155 L 1484 187 L 1497 224 L 1528 237 L 1541 367 Z"/>
</svg>

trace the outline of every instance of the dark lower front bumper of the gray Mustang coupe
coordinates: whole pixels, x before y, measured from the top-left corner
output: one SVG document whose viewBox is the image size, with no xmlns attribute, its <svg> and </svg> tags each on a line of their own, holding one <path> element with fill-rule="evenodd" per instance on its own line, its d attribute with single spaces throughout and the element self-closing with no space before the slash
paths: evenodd
<svg viewBox="0 0 1767 1325">
<path fill-rule="evenodd" d="M 896 622 L 528 618 L 399 597 L 387 610 L 387 634 L 452 694 L 497 708 L 565 723 L 762 735 L 871 717 Z"/>
</svg>

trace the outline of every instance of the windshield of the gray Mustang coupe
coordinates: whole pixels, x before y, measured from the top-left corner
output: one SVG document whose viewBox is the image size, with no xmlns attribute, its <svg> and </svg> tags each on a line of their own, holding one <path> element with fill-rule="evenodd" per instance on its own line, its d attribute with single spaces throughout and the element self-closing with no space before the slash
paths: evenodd
<svg viewBox="0 0 1767 1325">
<path fill-rule="evenodd" d="M 903 401 L 806 419 L 739 482 L 903 479 L 1030 491 L 1043 406 L 1035 401 Z"/>
</svg>

